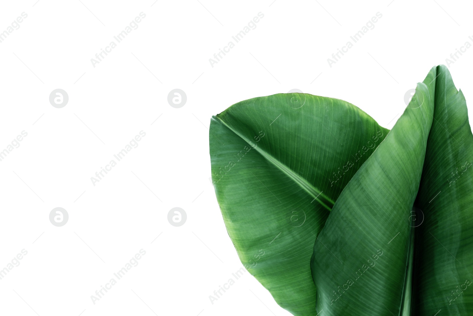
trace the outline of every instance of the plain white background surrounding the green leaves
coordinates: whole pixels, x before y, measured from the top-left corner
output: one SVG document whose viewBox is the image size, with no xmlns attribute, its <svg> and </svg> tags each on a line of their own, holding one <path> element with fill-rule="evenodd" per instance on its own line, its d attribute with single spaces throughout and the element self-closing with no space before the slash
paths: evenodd
<svg viewBox="0 0 473 316">
<path fill-rule="evenodd" d="M 81 1 L 1 4 L 0 32 L 28 15 L 0 43 L 0 151 L 28 133 L 0 162 L 0 269 L 28 252 L 0 280 L 1 315 L 289 315 L 249 273 L 210 302 L 242 267 L 209 181 L 210 117 L 299 89 L 347 100 L 391 128 L 405 92 L 473 44 L 467 1 Z M 94 68 L 90 59 L 140 12 L 138 28 Z M 258 12 L 256 28 L 211 67 Z M 472 63 L 473 47 L 449 68 L 467 102 Z M 69 95 L 63 108 L 49 103 L 58 88 Z M 176 88 L 182 108 L 167 102 Z M 94 186 L 141 130 L 138 147 Z M 49 221 L 56 207 L 69 213 L 62 227 Z M 183 226 L 167 221 L 174 207 L 187 214 Z M 140 249 L 139 264 L 93 304 Z"/>
</svg>

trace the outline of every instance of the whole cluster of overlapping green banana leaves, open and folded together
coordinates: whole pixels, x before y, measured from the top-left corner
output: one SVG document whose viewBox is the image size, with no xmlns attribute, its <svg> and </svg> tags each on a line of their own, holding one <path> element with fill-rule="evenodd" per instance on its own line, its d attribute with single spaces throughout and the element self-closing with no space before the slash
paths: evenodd
<svg viewBox="0 0 473 316">
<path fill-rule="evenodd" d="M 445 66 L 414 97 L 391 131 L 348 102 L 303 93 L 212 117 L 228 235 L 293 315 L 473 313 L 465 100 Z"/>
</svg>

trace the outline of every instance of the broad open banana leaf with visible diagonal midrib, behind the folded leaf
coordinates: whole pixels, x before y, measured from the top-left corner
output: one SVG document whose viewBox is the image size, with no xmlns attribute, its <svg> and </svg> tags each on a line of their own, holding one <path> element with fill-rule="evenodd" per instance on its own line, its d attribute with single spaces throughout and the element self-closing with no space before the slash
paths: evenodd
<svg viewBox="0 0 473 316">
<path fill-rule="evenodd" d="M 315 238 L 388 132 L 348 102 L 302 93 L 248 99 L 211 118 L 212 182 L 228 235 L 293 315 L 317 314 Z"/>
</svg>

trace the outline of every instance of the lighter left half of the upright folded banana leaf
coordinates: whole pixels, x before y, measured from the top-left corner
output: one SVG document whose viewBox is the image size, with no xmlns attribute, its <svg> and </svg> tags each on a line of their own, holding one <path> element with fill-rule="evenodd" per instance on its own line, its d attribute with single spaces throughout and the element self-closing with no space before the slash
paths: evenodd
<svg viewBox="0 0 473 316">
<path fill-rule="evenodd" d="M 311 269 L 321 316 L 398 316 L 409 303 L 411 210 L 434 115 L 435 77 L 434 67 L 417 85 L 422 105 L 406 108 L 345 187 L 315 242 Z"/>
</svg>

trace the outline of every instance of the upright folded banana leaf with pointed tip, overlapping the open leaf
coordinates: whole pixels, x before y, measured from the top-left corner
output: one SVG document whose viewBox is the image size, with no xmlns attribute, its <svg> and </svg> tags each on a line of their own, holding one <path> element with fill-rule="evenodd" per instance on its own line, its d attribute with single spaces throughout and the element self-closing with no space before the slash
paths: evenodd
<svg viewBox="0 0 473 316">
<path fill-rule="evenodd" d="M 415 97 L 317 236 L 311 271 L 320 316 L 473 315 L 465 99 L 445 66 L 431 69 Z"/>
</svg>

